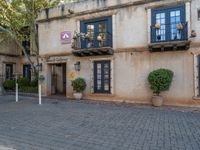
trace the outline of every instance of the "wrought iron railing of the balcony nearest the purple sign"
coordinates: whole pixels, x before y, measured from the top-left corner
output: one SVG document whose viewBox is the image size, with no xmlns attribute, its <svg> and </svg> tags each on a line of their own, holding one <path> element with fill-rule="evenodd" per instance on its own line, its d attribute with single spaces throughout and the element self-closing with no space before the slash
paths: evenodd
<svg viewBox="0 0 200 150">
<path fill-rule="evenodd" d="M 112 47 L 112 34 L 109 32 L 79 33 L 73 38 L 73 49 Z"/>
</svg>

